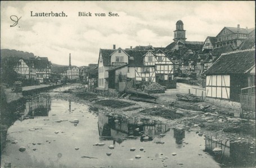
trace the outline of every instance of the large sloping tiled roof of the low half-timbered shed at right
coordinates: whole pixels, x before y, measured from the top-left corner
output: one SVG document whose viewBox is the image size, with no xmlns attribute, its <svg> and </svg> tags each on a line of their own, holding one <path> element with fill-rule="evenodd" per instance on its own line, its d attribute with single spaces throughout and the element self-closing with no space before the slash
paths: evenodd
<svg viewBox="0 0 256 168">
<path fill-rule="evenodd" d="M 255 66 L 255 49 L 224 53 L 204 74 L 241 74 Z"/>
</svg>

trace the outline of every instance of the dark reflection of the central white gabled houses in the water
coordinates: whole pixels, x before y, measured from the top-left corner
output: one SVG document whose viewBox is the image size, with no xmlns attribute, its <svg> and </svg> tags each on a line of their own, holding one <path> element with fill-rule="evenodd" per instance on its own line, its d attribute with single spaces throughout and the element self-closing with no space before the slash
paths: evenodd
<svg viewBox="0 0 256 168">
<path fill-rule="evenodd" d="M 170 128 L 166 124 L 158 123 L 156 120 L 128 117 L 124 115 L 98 114 L 98 132 L 100 139 L 113 139 L 122 143 L 125 139 L 136 139 L 140 137 L 141 142 L 152 141 L 154 136 L 166 133 Z"/>
</svg>

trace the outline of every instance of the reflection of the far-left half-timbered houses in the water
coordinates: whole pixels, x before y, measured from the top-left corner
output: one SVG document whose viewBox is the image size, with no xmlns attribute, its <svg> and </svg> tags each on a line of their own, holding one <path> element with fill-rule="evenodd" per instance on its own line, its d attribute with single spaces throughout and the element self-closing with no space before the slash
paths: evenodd
<svg viewBox="0 0 256 168">
<path fill-rule="evenodd" d="M 50 110 L 50 95 L 39 95 L 26 102 L 26 111 L 29 116 L 48 116 Z"/>
</svg>

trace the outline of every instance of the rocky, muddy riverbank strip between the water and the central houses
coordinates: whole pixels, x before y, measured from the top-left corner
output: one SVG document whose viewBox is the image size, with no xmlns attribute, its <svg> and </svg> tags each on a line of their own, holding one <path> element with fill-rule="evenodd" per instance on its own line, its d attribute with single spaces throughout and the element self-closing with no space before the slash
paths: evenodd
<svg viewBox="0 0 256 168">
<path fill-rule="evenodd" d="M 150 116 L 172 125 L 173 128 L 198 132 L 206 137 L 217 138 L 219 141 L 228 139 L 231 142 L 249 143 L 255 149 L 255 120 L 232 116 L 230 114 L 233 111 L 230 109 L 219 108 L 208 102 L 178 101 L 176 97 L 169 96 L 166 101 L 157 100 L 152 104 L 129 100 L 129 95 L 103 97 L 92 92 L 83 92 L 83 86 L 70 88 L 68 93 L 66 91 L 59 97 L 87 104 L 95 113 Z"/>
</svg>

